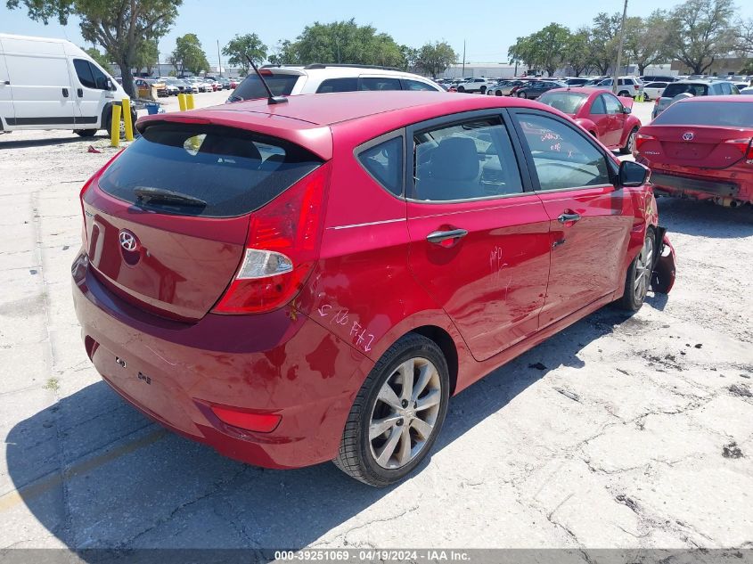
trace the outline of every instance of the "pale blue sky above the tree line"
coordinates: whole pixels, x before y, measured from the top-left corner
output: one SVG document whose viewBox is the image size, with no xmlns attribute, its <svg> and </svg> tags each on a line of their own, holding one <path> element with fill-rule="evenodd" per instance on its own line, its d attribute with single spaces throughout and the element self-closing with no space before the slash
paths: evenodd
<svg viewBox="0 0 753 564">
<path fill-rule="evenodd" d="M 675 2 L 629 0 L 629 16 L 647 16 L 657 8 L 668 9 Z M 274 53 L 282 39 L 295 39 L 307 24 L 355 18 L 358 24 L 371 24 L 389 33 L 398 44 L 421 46 L 446 40 L 462 57 L 466 42 L 468 62 L 507 62 L 507 49 L 516 37 L 526 36 L 552 21 L 576 29 L 593 20 L 597 12 L 621 12 L 622 0 L 583 2 L 575 0 L 184 0 L 175 25 L 160 40 L 160 61 L 166 61 L 175 48 L 176 37 L 195 33 L 211 64 L 217 64 L 220 47 L 234 35 L 256 33 Z M 742 18 L 753 18 L 753 2 L 738 2 Z M 29 36 L 60 37 L 80 46 L 87 45 L 78 21 L 65 27 L 59 23 L 29 20 L 24 8 L 8 10 L 0 0 L 0 32 Z M 225 57 L 221 57 L 225 64 Z"/>
</svg>

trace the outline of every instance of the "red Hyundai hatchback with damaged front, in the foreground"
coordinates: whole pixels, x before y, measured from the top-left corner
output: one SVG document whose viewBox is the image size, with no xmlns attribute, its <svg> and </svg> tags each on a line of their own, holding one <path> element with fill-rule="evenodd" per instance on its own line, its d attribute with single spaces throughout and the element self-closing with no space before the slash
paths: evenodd
<svg viewBox="0 0 753 564">
<path fill-rule="evenodd" d="M 241 461 L 394 482 L 449 396 L 674 279 L 647 169 L 536 102 L 306 95 L 137 128 L 81 192 L 86 352 Z"/>
</svg>

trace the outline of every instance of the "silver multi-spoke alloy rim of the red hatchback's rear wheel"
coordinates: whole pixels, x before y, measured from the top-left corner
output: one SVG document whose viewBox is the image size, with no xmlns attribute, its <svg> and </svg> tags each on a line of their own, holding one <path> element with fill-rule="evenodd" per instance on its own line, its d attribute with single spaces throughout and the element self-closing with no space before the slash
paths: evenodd
<svg viewBox="0 0 753 564">
<path fill-rule="evenodd" d="M 429 360 L 414 357 L 397 366 L 382 385 L 369 420 L 374 461 L 395 470 L 420 454 L 434 432 L 441 399 L 442 380 Z"/>
</svg>

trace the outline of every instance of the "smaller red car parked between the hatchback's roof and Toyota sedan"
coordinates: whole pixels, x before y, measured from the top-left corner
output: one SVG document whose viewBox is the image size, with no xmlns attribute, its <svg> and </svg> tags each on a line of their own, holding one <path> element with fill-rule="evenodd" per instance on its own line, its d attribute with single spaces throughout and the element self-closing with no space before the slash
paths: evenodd
<svg viewBox="0 0 753 564">
<path fill-rule="evenodd" d="M 632 114 L 633 98 L 594 88 L 558 88 L 542 94 L 538 101 L 568 114 L 611 150 L 633 152 L 641 127 L 641 120 Z"/>
</svg>

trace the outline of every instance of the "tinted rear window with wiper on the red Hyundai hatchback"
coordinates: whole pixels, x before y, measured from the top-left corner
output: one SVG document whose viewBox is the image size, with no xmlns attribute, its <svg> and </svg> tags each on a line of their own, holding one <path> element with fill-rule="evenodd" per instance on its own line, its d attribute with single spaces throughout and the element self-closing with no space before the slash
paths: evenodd
<svg viewBox="0 0 753 564">
<path fill-rule="evenodd" d="M 276 137 L 166 123 L 147 127 L 105 170 L 99 187 L 161 213 L 234 217 L 261 208 L 322 162 Z M 156 191 L 162 197 L 150 199 Z"/>
</svg>

